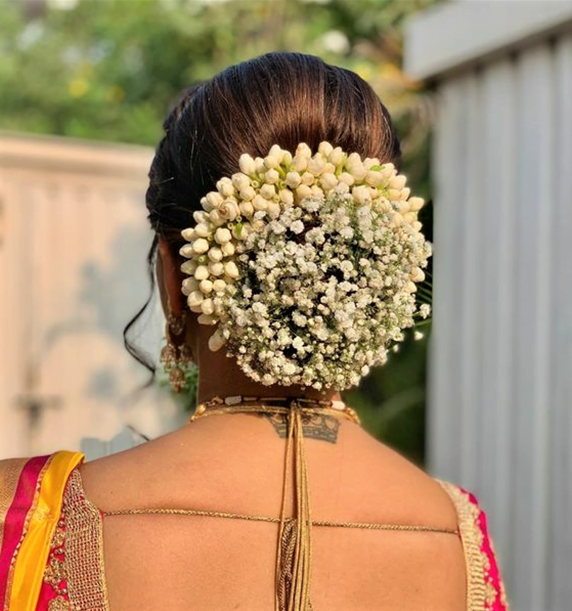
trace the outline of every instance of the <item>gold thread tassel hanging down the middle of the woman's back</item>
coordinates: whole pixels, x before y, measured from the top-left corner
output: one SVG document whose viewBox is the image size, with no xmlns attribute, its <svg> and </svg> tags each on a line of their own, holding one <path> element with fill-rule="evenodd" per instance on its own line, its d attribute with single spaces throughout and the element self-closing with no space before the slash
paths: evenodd
<svg viewBox="0 0 572 611">
<path fill-rule="evenodd" d="M 294 444 L 295 515 L 286 520 L 285 509 Z M 311 511 L 304 429 L 299 402 L 292 400 L 288 414 L 282 509 L 276 557 L 275 611 L 311 611 Z"/>
</svg>

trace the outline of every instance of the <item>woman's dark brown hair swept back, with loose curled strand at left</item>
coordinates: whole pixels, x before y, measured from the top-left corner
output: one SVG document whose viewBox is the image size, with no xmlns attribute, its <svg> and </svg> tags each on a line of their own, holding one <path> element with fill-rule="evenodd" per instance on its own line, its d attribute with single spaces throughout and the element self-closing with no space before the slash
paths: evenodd
<svg viewBox="0 0 572 611">
<path fill-rule="evenodd" d="M 147 190 L 149 221 L 156 232 L 148 255 L 151 296 L 157 235 L 182 243 L 181 230 L 201 209 L 200 198 L 222 176 L 239 171 L 242 153 L 264 157 L 273 144 L 294 152 L 321 141 L 344 151 L 399 165 L 401 148 L 386 107 L 352 71 L 300 53 L 268 53 L 230 66 L 185 91 L 164 122 L 165 135 Z M 151 297 L 125 327 L 127 350 L 154 366 L 127 339 Z"/>
</svg>

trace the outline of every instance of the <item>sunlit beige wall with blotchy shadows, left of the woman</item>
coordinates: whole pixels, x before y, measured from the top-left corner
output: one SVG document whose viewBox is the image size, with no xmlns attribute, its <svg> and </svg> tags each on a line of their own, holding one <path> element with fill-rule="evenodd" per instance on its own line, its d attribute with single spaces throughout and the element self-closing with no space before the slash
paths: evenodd
<svg viewBox="0 0 572 611">
<path fill-rule="evenodd" d="M 127 424 L 154 436 L 181 419 L 165 390 L 134 400 L 149 374 L 122 342 L 149 293 L 151 155 L 0 135 L 0 458 L 79 449 Z M 142 338 L 151 356 L 164 322 L 155 314 Z M 18 408 L 30 397 L 43 406 L 36 419 Z"/>
</svg>

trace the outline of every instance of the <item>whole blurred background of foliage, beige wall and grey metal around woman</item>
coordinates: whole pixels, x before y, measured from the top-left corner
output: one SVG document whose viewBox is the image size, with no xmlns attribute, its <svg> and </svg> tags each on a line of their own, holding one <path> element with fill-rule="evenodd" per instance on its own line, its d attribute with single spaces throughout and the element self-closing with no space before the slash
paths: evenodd
<svg viewBox="0 0 572 611">
<path fill-rule="evenodd" d="M 435 200 L 433 324 L 345 400 L 479 496 L 515 609 L 571 610 L 568 0 L 0 1 L 0 458 L 185 421 L 193 397 L 160 370 L 141 390 L 123 346 L 149 298 L 147 170 L 183 88 L 271 50 L 369 81 Z M 156 296 L 132 339 L 157 361 Z"/>
</svg>

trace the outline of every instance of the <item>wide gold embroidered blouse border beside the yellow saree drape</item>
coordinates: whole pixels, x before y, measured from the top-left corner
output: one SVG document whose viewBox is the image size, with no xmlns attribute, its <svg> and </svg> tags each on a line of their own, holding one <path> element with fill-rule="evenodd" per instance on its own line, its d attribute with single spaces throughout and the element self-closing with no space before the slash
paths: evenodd
<svg viewBox="0 0 572 611">
<path fill-rule="evenodd" d="M 103 564 L 103 521 L 84 495 L 75 469 L 64 493 L 66 504 L 65 564 L 72 611 L 109 611 Z"/>
</svg>

